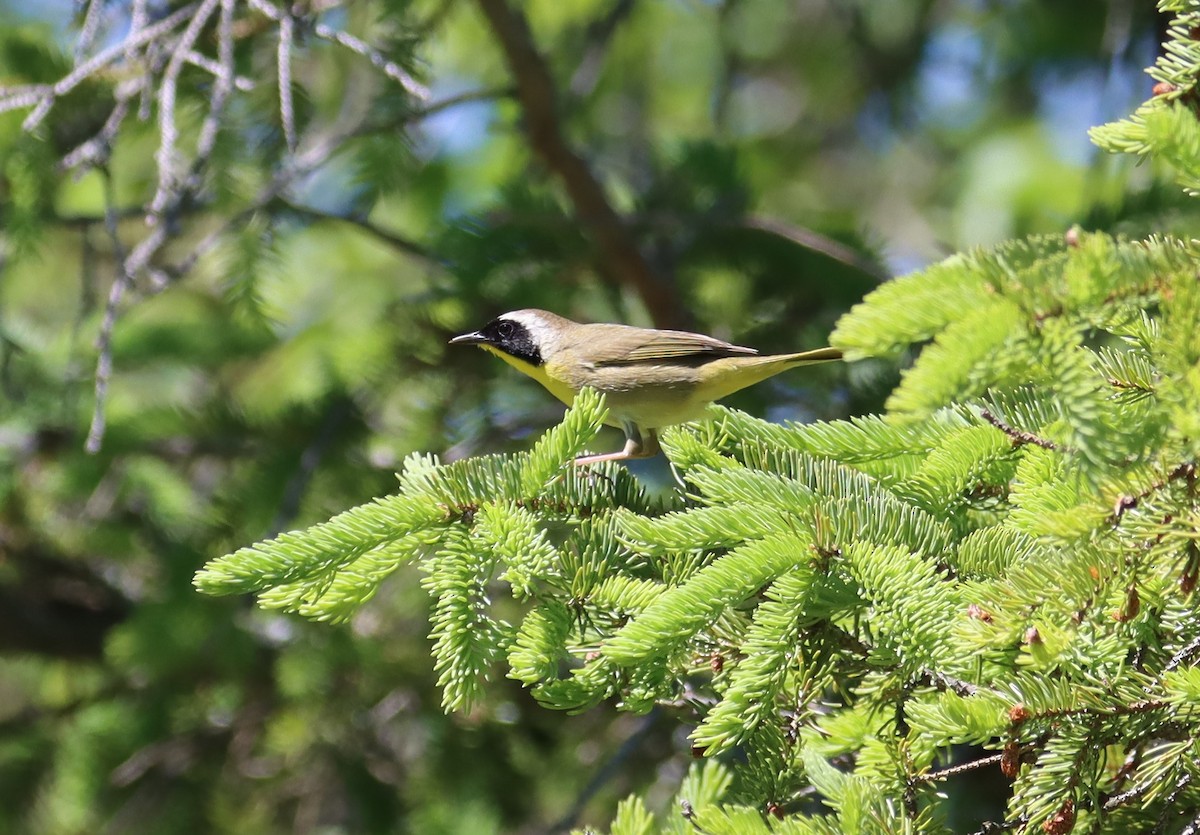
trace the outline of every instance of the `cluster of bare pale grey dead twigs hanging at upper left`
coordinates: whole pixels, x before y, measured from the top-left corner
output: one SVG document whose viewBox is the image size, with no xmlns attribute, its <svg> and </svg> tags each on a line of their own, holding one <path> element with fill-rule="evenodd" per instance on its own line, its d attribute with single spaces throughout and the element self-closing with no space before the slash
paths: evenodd
<svg viewBox="0 0 1200 835">
<path fill-rule="evenodd" d="M 180 218 L 187 217 L 205 205 L 203 196 L 204 172 L 216 146 L 222 115 L 229 96 L 235 90 L 248 90 L 254 85 L 251 79 L 241 78 L 235 73 L 235 14 L 241 7 L 257 10 L 280 24 L 277 50 L 280 112 L 284 140 L 293 156 L 286 161 L 271 182 L 241 211 L 235 212 L 217 228 L 210 229 L 181 260 L 160 266 L 155 264 L 156 256 L 168 241 L 185 233 L 186 227 L 180 223 Z M 96 337 L 98 356 L 95 373 L 95 406 L 85 445 L 90 452 L 96 452 L 103 439 L 104 409 L 108 385 L 113 374 L 113 331 L 130 296 L 134 292 L 157 293 L 168 287 L 173 280 L 186 275 L 232 228 L 270 206 L 274 202 L 282 199 L 298 179 L 325 164 L 348 139 L 366 132 L 361 121 L 350 121 L 349 124 L 338 121 L 326 136 L 305 143 L 306 146 L 301 148 L 292 95 L 292 59 L 298 26 L 308 26 L 306 31 L 311 31 L 317 37 L 366 58 L 385 76 L 398 82 L 410 95 L 421 100 L 428 97 L 428 91 L 410 73 L 385 58 L 378 49 L 348 32 L 336 31 L 325 24 L 313 22 L 311 16 L 320 12 L 323 8 L 320 5 L 307 7 L 305 17 L 294 17 L 290 7 L 289 11 L 284 11 L 282 6 L 270 2 L 270 0 L 246 0 L 245 4 L 239 4 L 239 0 L 196 0 L 152 23 L 149 0 L 132 0 L 128 8 L 130 25 L 125 36 L 88 58 L 91 46 L 104 37 L 106 25 L 109 25 L 110 20 L 107 17 L 104 0 L 86 0 L 84 20 L 76 44 L 76 66 L 53 84 L 0 88 L 0 113 L 30 109 L 23 126 L 24 130 L 32 131 L 42 124 L 59 98 L 110 66 L 121 62 L 126 65 L 121 70 L 121 79 L 114 86 L 113 107 L 103 126 L 95 136 L 62 157 L 59 162 L 60 170 L 103 167 L 108 162 L 118 133 L 133 110 L 134 100 L 139 100 L 138 116 L 143 120 L 150 119 L 150 108 L 155 103 L 157 104 L 155 114 L 158 127 L 158 148 L 155 152 L 157 184 L 145 209 L 138 210 L 150 228 L 148 234 L 132 244 L 131 247 L 121 241 L 118 226 L 120 218 L 127 216 L 128 211 L 116 208 L 114 184 L 109 172 L 102 168 L 106 188 L 102 221 L 112 242 L 116 271 L 109 287 L 100 332 Z M 217 13 L 215 32 L 217 54 L 214 59 L 197 44 L 202 42 L 202 36 L 211 30 L 212 18 Z M 208 112 L 200 124 L 196 146 L 191 149 L 191 154 L 180 148 L 180 125 L 176 114 L 179 80 L 185 66 L 199 67 L 215 79 L 209 94 Z M 463 101 L 494 95 L 503 95 L 503 92 L 464 94 L 452 100 L 438 102 L 404 116 L 394 127 Z M 305 206 L 290 206 L 289 209 L 311 220 L 336 220 L 354 223 L 408 254 L 428 258 L 427 252 L 419 244 L 366 220 L 326 215 Z M 66 222 L 77 222 L 77 224 L 83 226 L 84 234 L 86 234 L 88 226 L 100 220 L 67 218 Z M 140 278 L 145 278 L 145 283 L 138 287 L 137 282 Z"/>
</svg>

